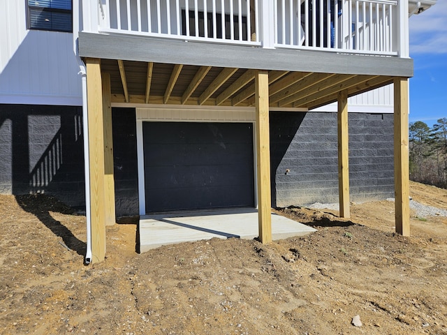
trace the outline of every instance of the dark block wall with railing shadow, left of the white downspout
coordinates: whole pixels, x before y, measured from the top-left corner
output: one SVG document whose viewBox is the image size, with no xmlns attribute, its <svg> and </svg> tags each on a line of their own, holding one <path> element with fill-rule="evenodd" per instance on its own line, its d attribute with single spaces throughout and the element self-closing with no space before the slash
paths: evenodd
<svg viewBox="0 0 447 335">
<path fill-rule="evenodd" d="M 0 192 L 85 204 L 82 109 L 0 105 Z"/>
</svg>

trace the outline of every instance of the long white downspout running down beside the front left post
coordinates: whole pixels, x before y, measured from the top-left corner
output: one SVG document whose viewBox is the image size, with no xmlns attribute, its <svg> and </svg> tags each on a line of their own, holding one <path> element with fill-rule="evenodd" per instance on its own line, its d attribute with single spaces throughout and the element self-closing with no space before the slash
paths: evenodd
<svg viewBox="0 0 447 335">
<path fill-rule="evenodd" d="M 82 84 L 82 132 L 84 133 L 84 174 L 85 174 L 85 217 L 87 221 L 87 251 L 85 252 L 85 264 L 91 262 L 91 209 L 90 209 L 90 153 L 89 153 L 89 127 L 87 109 L 87 70 L 85 64 L 79 57 L 78 36 L 82 31 L 83 20 L 81 16 L 80 0 L 73 1 L 73 51 L 78 61 L 79 72 Z"/>
</svg>

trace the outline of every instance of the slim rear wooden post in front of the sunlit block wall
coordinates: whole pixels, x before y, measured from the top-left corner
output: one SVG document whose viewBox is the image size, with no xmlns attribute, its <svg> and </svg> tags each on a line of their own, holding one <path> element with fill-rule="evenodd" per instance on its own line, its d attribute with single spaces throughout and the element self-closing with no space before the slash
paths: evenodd
<svg viewBox="0 0 447 335">
<path fill-rule="evenodd" d="M 338 94 L 338 193 L 341 218 L 349 218 L 349 136 L 348 136 L 348 92 Z"/>
</svg>

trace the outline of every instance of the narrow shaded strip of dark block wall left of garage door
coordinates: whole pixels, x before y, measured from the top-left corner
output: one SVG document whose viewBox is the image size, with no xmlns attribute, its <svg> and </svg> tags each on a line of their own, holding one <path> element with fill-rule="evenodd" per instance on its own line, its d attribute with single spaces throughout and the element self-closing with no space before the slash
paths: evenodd
<svg viewBox="0 0 447 335">
<path fill-rule="evenodd" d="M 112 108 L 112 127 L 116 215 L 138 215 L 135 108 Z"/>
</svg>

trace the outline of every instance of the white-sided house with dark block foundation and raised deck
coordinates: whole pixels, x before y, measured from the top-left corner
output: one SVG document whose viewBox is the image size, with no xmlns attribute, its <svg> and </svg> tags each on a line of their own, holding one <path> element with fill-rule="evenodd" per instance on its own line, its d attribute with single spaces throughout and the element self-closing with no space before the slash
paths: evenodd
<svg viewBox="0 0 447 335">
<path fill-rule="evenodd" d="M 94 262 L 156 211 L 258 207 L 268 242 L 272 205 L 395 193 L 409 234 L 408 24 L 434 3 L 5 0 L 0 191 L 86 204 Z"/>
</svg>

